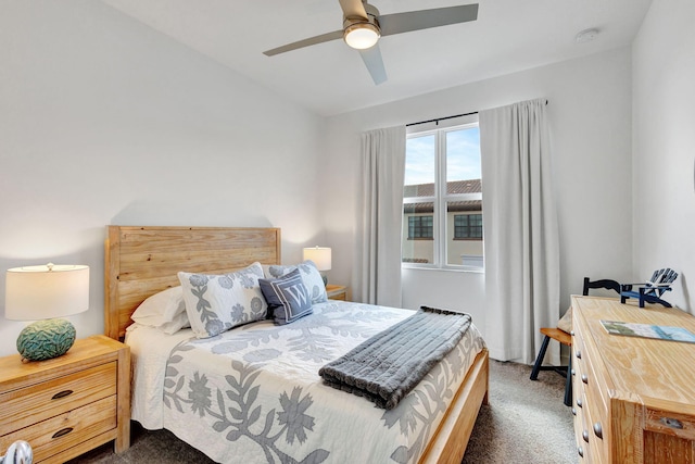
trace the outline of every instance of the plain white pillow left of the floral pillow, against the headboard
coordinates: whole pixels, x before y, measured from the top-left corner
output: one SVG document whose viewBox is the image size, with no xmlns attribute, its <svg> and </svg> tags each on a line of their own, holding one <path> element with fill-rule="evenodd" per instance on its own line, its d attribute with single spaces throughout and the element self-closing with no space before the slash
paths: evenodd
<svg viewBox="0 0 695 464">
<path fill-rule="evenodd" d="M 140 303 L 130 318 L 138 324 L 160 328 L 169 335 L 184 327 L 190 327 L 180 286 L 154 293 Z"/>
</svg>

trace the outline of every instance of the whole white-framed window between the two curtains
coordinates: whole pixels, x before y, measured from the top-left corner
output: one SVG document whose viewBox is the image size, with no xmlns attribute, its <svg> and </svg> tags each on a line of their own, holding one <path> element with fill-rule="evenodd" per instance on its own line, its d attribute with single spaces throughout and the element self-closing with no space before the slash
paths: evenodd
<svg viewBox="0 0 695 464">
<path fill-rule="evenodd" d="M 405 156 L 403 263 L 481 268 L 483 211 L 477 120 L 408 134 Z"/>
</svg>

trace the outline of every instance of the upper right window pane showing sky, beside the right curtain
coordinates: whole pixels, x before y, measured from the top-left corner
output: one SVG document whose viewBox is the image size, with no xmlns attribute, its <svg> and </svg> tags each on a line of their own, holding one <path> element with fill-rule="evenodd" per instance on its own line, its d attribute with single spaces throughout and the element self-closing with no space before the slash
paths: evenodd
<svg viewBox="0 0 695 464">
<path fill-rule="evenodd" d="M 480 191 L 478 126 L 446 133 L 446 193 Z"/>
</svg>

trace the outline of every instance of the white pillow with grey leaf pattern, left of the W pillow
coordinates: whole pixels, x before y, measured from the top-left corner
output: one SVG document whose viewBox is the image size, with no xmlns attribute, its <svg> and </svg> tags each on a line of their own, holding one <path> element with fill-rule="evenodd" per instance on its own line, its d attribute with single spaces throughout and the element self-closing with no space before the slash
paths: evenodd
<svg viewBox="0 0 695 464">
<path fill-rule="evenodd" d="M 178 273 L 186 313 L 198 338 L 208 338 L 242 324 L 264 319 L 268 304 L 258 279 L 261 264 L 224 275 Z"/>
</svg>

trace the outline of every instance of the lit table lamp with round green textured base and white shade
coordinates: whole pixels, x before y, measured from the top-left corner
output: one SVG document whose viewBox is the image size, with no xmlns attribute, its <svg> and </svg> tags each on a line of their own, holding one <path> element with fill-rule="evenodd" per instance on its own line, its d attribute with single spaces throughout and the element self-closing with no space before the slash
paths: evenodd
<svg viewBox="0 0 695 464">
<path fill-rule="evenodd" d="M 70 321 L 52 317 L 70 316 L 88 309 L 89 266 L 48 263 L 7 272 L 5 317 L 36 321 L 17 338 L 17 351 L 23 362 L 65 354 L 75 341 L 75 326 Z"/>
</svg>

